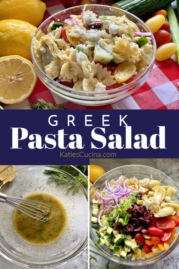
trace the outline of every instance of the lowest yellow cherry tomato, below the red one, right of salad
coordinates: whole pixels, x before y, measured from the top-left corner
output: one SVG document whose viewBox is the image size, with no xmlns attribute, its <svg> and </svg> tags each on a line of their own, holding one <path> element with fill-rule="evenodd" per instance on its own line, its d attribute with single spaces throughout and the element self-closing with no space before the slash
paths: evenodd
<svg viewBox="0 0 179 269">
<path fill-rule="evenodd" d="M 163 61 L 169 59 L 177 51 L 177 45 L 173 42 L 161 45 L 157 49 L 156 60 Z"/>
</svg>

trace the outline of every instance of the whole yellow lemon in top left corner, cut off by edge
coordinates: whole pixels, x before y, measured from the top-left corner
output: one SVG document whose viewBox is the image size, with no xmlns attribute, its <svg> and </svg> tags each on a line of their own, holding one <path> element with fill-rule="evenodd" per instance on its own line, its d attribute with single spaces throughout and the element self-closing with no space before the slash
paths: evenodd
<svg viewBox="0 0 179 269">
<path fill-rule="evenodd" d="M 40 0 L 1 0 L 0 20 L 16 19 L 38 26 L 45 10 L 46 4 Z"/>
</svg>

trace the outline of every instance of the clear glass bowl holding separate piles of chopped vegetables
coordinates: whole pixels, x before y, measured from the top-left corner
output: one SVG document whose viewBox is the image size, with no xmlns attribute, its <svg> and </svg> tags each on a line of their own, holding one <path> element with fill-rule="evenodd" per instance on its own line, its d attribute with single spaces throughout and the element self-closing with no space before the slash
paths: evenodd
<svg viewBox="0 0 179 269">
<path fill-rule="evenodd" d="M 150 176 L 152 175 L 154 180 L 161 181 L 161 186 L 162 185 L 169 185 L 171 187 L 175 187 L 176 193 L 173 197 L 173 200 L 176 199 L 179 201 L 179 189 L 178 189 L 177 185 L 175 184 L 175 182 L 172 181 L 172 179 L 169 178 L 167 175 L 165 175 L 161 171 L 154 169 L 152 167 L 149 167 L 149 166 L 125 165 L 125 166 L 117 167 L 115 169 L 108 171 L 107 173 L 102 175 L 100 178 L 98 178 L 98 180 L 95 181 L 94 184 L 92 184 L 92 187 L 90 188 L 90 216 L 92 215 L 92 197 L 95 195 L 95 192 L 96 191 L 100 192 L 105 188 L 105 180 L 111 181 L 112 179 L 114 179 L 116 181 L 121 175 L 125 176 L 126 178 L 130 178 L 130 177 L 135 176 L 139 180 L 146 178 L 146 177 L 150 178 Z M 176 233 L 179 235 L 178 228 L 177 228 Z M 92 229 L 91 227 L 90 227 L 90 239 L 91 239 L 94 247 L 100 253 L 102 253 L 106 258 L 108 258 L 114 262 L 118 262 L 118 263 L 121 263 L 124 265 L 132 265 L 132 266 L 147 265 L 147 264 L 150 264 L 152 262 L 156 262 L 156 261 L 162 259 L 163 257 L 165 257 L 166 255 L 168 255 L 172 250 L 174 250 L 174 248 L 179 243 L 179 236 L 178 236 L 177 239 L 175 239 L 172 242 L 172 244 L 169 245 L 169 250 L 165 250 L 165 251 L 162 251 L 160 253 L 156 253 L 155 256 L 148 258 L 148 259 L 145 258 L 145 259 L 138 259 L 138 260 L 131 261 L 130 259 L 125 260 L 125 259 L 122 259 L 118 256 L 112 255 L 111 252 L 109 251 L 109 247 L 99 246 L 97 244 L 98 237 L 96 235 L 96 230 Z"/>
</svg>

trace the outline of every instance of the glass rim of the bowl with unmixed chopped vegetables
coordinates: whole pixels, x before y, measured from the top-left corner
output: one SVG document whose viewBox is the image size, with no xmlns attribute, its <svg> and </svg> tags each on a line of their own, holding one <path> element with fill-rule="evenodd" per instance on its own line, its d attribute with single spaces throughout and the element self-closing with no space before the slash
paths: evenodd
<svg viewBox="0 0 179 269">
<path fill-rule="evenodd" d="M 170 181 L 172 181 L 172 183 L 174 184 L 174 186 L 175 186 L 175 188 L 177 189 L 177 191 L 179 192 L 179 187 L 175 184 L 175 182 L 168 176 L 168 175 L 166 175 L 165 173 L 163 173 L 163 172 L 161 172 L 160 170 L 158 170 L 158 169 L 156 169 L 156 168 L 153 168 L 153 167 L 151 167 L 151 166 L 146 166 L 146 165 L 140 165 L 140 164 L 129 164 L 129 165 L 123 165 L 123 166 L 118 166 L 118 167 L 115 167 L 115 168 L 113 168 L 113 169 L 111 169 L 111 170 L 109 170 L 109 171 L 107 171 L 105 174 L 103 174 L 101 177 L 99 177 L 96 181 L 95 181 L 95 183 L 98 183 L 99 181 L 100 181 L 100 179 L 101 178 L 103 178 L 104 177 L 104 175 L 106 175 L 106 174 L 108 174 L 108 173 L 110 173 L 110 172 L 112 172 L 112 171 L 114 171 L 115 169 L 118 169 L 118 168 L 127 168 L 127 167 L 132 167 L 132 166 L 140 166 L 140 167 L 147 167 L 147 168 L 150 168 L 150 169 L 152 169 L 152 170 L 154 170 L 154 171 L 157 171 L 157 172 L 160 172 L 161 174 L 163 174 L 165 177 L 167 177 Z M 92 187 L 94 187 L 94 185 L 95 185 L 95 183 L 93 183 L 93 185 L 91 186 L 91 188 Z M 97 185 L 97 184 L 96 184 Z M 90 189 L 91 189 L 90 188 Z M 91 194 L 91 195 L 94 195 L 94 192 L 96 191 L 96 188 L 93 190 L 93 193 Z M 89 197 L 89 201 L 91 200 L 91 195 L 90 195 L 90 197 Z M 90 202 L 90 205 L 91 205 L 92 203 Z M 91 207 L 91 206 L 90 206 Z M 90 223 L 90 222 L 89 222 Z M 89 233 L 90 233 L 90 241 L 92 242 L 92 244 L 93 244 L 93 246 L 102 254 L 102 255 L 104 255 L 107 259 L 110 259 L 110 260 L 112 260 L 113 262 L 118 262 L 118 263 L 121 263 L 121 264 L 123 264 L 123 265 L 129 265 L 129 266 L 131 266 L 131 265 L 133 265 L 133 266 L 138 266 L 138 265 L 147 265 L 147 264 L 152 264 L 153 262 L 157 262 L 158 260 L 160 260 L 160 259 L 162 259 L 162 258 L 164 258 L 164 257 L 166 257 L 169 253 L 171 253 L 172 252 L 172 250 L 174 250 L 175 249 L 175 247 L 177 247 L 177 245 L 179 244 L 179 237 L 177 237 L 177 239 L 175 240 L 175 242 L 174 242 L 174 244 L 172 244 L 172 246 L 169 248 L 169 250 L 165 250 L 165 251 L 162 251 L 162 252 L 160 252 L 160 253 L 158 253 L 159 255 L 158 255 L 158 257 L 155 257 L 155 256 L 153 256 L 153 257 L 151 257 L 151 258 L 148 258 L 148 259 L 142 259 L 141 261 L 139 261 L 139 262 L 136 262 L 136 261 L 128 261 L 128 260 L 117 260 L 117 256 L 115 257 L 115 256 L 112 256 L 112 254 L 111 255 L 109 255 L 109 253 L 106 253 L 106 252 L 104 252 L 104 250 L 97 244 L 97 242 L 96 242 L 96 240 L 94 240 L 95 239 L 95 237 L 93 236 L 93 233 L 92 233 L 92 228 L 91 228 L 91 225 L 89 225 L 89 227 L 90 227 L 90 229 L 89 229 Z M 163 253 L 163 255 L 162 255 L 162 253 Z"/>
</svg>

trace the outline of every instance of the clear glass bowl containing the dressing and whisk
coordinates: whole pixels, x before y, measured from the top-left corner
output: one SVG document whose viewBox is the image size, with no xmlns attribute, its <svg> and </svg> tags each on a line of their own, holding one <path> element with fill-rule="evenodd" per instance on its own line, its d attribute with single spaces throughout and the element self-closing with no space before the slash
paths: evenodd
<svg viewBox="0 0 179 269">
<path fill-rule="evenodd" d="M 62 185 L 54 181 L 47 182 L 51 174 L 44 174 L 45 170 L 66 177 L 71 181 L 71 184 L 68 181 Z M 79 170 L 78 172 L 81 173 Z M 6 183 L 1 188 L 1 192 L 18 198 L 21 195 L 26 197 L 35 192 L 54 195 L 66 209 L 67 226 L 64 233 L 53 243 L 46 245 L 30 244 L 16 233 L 13 225 L 15 209 L 8 204 L 1 203 L 0 254 L 9 261 L 24 267 L 53 268 L 63 265 L 83 253 L 87 248 L 88 236 L 86 189 L 77 183 L 75 177 L 71 174 L 49 166 L 18 167 L 12 175 L 14 175 L 13 181 Z M 72 186 L 70 192 L 68 192 L 69 186 Z M 76 188 L 78 188 L 78 192 L 73 195 L 73 190 Z"/>
</svg>

